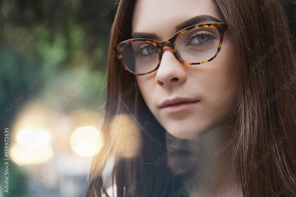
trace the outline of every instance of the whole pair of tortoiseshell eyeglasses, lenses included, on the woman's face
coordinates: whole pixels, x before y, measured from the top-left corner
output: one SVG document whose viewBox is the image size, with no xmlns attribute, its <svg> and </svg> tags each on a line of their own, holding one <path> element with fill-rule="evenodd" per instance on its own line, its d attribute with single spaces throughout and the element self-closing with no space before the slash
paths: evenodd
<svg viewBox="0 0 296 197">
<path fill-rule="evenodd" d="M 184 64 L 204 64 L 218 55 L 227 28 L 225 23 L 193 25 L 165 41 L 135 38 L 117 44 L 114 50 L 124 68 L 135 75 L 156 71 L 165 46 Z"/>
</svg>

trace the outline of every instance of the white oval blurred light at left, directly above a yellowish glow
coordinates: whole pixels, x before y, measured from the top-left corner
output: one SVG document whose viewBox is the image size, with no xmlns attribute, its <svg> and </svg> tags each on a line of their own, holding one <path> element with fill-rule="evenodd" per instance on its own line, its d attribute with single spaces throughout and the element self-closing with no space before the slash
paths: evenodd
<svg viewBox="0 0 296 197">
<path fill-rule="evenodd" d="M 17 133 L 17 143 L 23 148 L 36 148 L 49 142 L 49 133 L 41 129 L 23 129 Z"/>
</svg>

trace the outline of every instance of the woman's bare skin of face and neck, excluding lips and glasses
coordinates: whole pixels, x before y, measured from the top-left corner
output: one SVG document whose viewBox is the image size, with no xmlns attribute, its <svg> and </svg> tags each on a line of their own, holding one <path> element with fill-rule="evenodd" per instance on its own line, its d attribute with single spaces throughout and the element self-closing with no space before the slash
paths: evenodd
<svg viewBox="0 0 296 197">
<path fill-rule="evenodd" d="M 212 0 L 138 0 L 133 13 L 132 34 L 155 33 L 158 40 L 167 40 L 177 32 L 175 26 L 204 14 L 225 22 Z M 203 21 L 200 24 L 207 22 L 217 21 Z M 223 163 L 225 158 L 218 159 L 215 153 L 225 145 L 224 142 L 229 141 L 233 132 L 239 76 L 238 52 L 229 29 L 224 34 L 220 53 L 212 61 L 186 65 L 176 59 L 170 48 L 164 47 L 159 69 L 136 76 L 144 101 L 168 132 L 168 142 L 172 142 L 167 146 L 173 149 L 169 157 L 173 175 L 186 174 L 192 169 L 202 172 L 197 181 L 187 188 L 190 196 L 222 196 L 223 191 L 230 191 L 232 185 L 238 185 L 233 171 L 219 175 L 225 175 L 224 178 L 217 178 L 221 166 L 233 168 L 230 159 Z M 187 110 L 167 113 L 160 108 L 160 104 L 174 95 L 198 102 Z M 182 140 L 175 145 L 174 138 Z M 186 149 L 187 153 L 184 154 L 187 155 L 180 156 L 180 149 Z M 193 175 L 194 172 L 185 175 L 184 180 Z M 216 185 L 222 186 L 217 189 Z"/>
</svg>

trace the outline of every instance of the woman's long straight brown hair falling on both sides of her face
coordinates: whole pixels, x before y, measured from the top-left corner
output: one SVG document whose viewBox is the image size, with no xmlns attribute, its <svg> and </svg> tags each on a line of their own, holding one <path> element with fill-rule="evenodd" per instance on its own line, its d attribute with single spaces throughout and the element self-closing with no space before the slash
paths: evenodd
<svg viewBox="0 0 296 197">
<path fill-rule="evenodd" d="M 241 91 L 232 151 L 242 192 L 256 197 L 296 196 L 295 53 L 284 14 L 276 0 L 214 1 L 239 52 Z M 113 46 L 131 38 L 134 5 L 135 1 L 121 0 L 112 26 L 102 124 L 106 144 L 94 157 L 86 196 L 107 195 L 103 169 L 118 143 L 111 133 L 114 117 L 120 114 L 132 116 L 137 126 L 133 130 L 142 132 L 138 154 L 122 158 L 115 151 L 110 180 L 117 195 L 170 196 L 180 181 L 170 175 L 166 160 L 153 164 L 167 151 L 165 130 L 145 105 L 135 76 L 120 66 L 113 52 Z M 134 89 L 124 93 L 131 85 Z M 151 122 L 147 128 L 145 121 Z M 117 132 L 120 137 L 120 129 Z"/>
</svg>

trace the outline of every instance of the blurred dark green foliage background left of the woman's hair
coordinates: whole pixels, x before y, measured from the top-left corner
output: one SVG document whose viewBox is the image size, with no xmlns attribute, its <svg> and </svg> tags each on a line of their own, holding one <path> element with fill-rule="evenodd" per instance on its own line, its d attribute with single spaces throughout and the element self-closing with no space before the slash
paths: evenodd
<svg viewBox="0 0 296 197">
<path fill-rule="evenodd" d="M 11 127 L 17 114 L 33 99 L 47 100 L 44 105 L 64 113 L 77 109 L 102 111 L 108 39 L 116 12 L 114 0 L 5 0 L 0 2 L 0 11 L 1 139 L 6 127 L 10 136 L 16 132 Z M 94 70 L 99 73 L 95 77 Z M 40 83 L 30 90 L 34 80 Z M 67 102 L 81 86 L 85 89 L 79 96 Z M 20 102 L 7 111 L 20 96 Z M 2 141 L 0 145 L 3 158 Z M 12 161 L 9 167 L 9 196 L 21 196 L 28 174 Z M 2 171 L 1 185 L 3 176 Z"/>
</svg>

